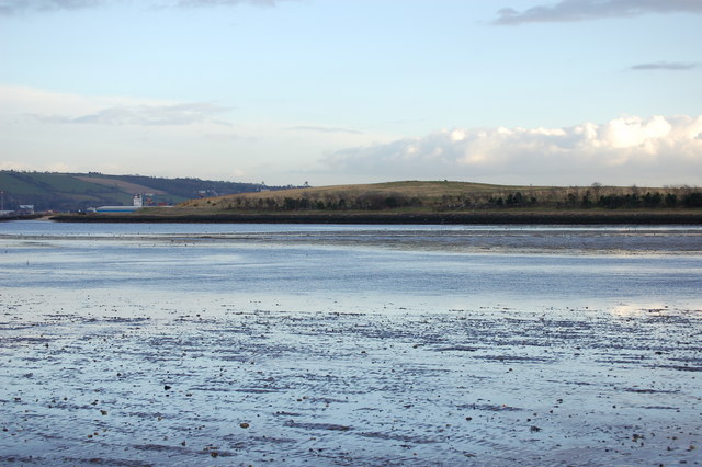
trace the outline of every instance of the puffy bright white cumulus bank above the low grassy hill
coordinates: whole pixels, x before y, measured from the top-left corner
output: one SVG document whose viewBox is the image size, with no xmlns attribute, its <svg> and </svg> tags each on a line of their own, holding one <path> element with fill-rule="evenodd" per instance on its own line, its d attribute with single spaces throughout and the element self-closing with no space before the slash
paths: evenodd
<svg viewBox="0 0 702 467">
<path fill-rule="evenodd" d="M 627 116 L 567 128 L 457 128 L 340 150 L 324 162 L 336 171 L 386 180 L 699 184 L 702 115 Z"/>
</svg>

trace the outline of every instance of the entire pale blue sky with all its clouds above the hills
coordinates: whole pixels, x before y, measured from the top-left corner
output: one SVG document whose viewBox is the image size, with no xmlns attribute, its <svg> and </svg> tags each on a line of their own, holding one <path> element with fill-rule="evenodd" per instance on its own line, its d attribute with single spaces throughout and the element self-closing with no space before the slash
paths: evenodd
<svg viewBox="0 0 702 467">
<path fill-rule="evenodd" d="M 0 169 L 702 184 L 702 0 L 0 0 Z"/>
</svg>

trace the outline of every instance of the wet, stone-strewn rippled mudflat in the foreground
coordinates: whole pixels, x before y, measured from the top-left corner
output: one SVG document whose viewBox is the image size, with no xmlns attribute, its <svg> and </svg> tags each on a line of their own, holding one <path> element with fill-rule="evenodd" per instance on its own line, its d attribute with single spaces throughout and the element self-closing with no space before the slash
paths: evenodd
<svg viewBox="0 0 702 467">
<path fill-rule="evenodd" d="M 702 460 L 699 309 L 0 300 L 0 463 Z"/>
</svg>

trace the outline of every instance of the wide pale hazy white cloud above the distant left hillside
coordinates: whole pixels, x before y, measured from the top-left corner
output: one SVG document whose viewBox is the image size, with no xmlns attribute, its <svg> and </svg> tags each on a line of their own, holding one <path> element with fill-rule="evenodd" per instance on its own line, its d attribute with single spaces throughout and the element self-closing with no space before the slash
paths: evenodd
<svg viewBox="0 0 702 467">
<path fill-rule="evenodd" d="M 302 183 L 319 155 L 385 135 L 317 122 L 260 121 L 212 103 L 89 96 L 0 84 L 4 169 Z M 296 128 L 292 130 L 291 128 Z M 10 162 L 13 161 L 13 162 Z"/>
</svg>

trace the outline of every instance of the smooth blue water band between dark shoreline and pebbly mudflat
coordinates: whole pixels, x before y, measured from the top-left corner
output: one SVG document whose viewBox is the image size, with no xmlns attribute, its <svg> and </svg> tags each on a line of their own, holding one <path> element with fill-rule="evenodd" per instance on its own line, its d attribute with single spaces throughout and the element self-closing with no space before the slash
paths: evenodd
<svg viewBox="0 0 702 467">
<path fill-rule="evenodd" d="M 8 287 L 254 291 L 286 300 L 429 300 L 435 309 L 700 298 L 702 230 L 689 227 L 0 227 Z"/>
</svg>

